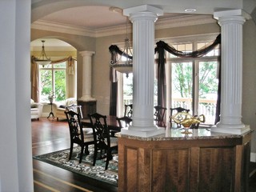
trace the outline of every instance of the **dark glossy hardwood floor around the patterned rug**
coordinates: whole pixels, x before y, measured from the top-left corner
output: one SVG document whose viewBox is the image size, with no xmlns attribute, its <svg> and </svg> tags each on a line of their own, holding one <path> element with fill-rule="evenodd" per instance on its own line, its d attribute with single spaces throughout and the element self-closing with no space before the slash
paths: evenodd
<svg viewBox="0 0 256 192">
<path fill-rule="evenodd" d="M 33 155 L 70 148 L 70 133 L 65 121 L 56 118 L 32 120 Z M 33 159 L 34 191 L 118 191 L 117 187 L 74 174 L 68 170 Z"/>
</svg>

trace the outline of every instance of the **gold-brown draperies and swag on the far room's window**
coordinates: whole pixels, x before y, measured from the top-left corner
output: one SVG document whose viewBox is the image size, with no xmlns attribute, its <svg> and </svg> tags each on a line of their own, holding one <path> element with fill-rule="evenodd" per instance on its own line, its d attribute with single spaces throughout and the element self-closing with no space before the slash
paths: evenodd
<svg viewBox="0 0 256 192">
<path fill-rule="evenodd" d="M 68 74 L 74 74 L 74 61 L 75 59 L 71 56 L 68 58 L 62 58 L 56 61 L 50 62 L 51 64 L 58 64 L 60 62 L 68 62 Z M 39 70 L 38 63 L 35 62 L 35 57 L 31 56 L 31 70 L 30 70 L 30 81 L 31 81 L 31 98 L 34 102 L 39 101 Z"/>
</svg>

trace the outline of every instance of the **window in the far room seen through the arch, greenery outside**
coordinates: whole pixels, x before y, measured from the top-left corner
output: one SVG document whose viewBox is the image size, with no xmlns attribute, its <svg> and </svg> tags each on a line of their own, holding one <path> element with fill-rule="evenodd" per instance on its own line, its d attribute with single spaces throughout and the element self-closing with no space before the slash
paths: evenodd
<svg viewBox="0 0 256 192">
<path fill-rule="evenodd" d="M 40 102 L 49 102 L 52 92 L 55 101 L 66 99 L 66 62 L 39 66 L 39 77 Z"/>
</svg>

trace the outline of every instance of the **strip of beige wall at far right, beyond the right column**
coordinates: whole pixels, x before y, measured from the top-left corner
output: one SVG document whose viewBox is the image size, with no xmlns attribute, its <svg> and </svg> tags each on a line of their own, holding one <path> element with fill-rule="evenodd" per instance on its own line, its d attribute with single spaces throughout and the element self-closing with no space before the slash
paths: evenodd
<svg viewBox="0 0 256 192">
<path fill-rule="evenodd" d="M 256 158 L 256 26 L 253 20 L 243 26 L 242 122 L 254 130 L 251 151 Z"/>
</svg>

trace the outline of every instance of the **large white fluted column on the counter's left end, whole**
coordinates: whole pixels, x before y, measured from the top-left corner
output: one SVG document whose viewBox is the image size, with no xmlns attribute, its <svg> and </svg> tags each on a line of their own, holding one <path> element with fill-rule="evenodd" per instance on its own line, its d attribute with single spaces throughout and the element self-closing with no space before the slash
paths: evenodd
<svg viewBox="0 0 256 192">
<path fill-rule="evenodd" d="M 124 134 L 150 137 L 165 132 L 154 125 L 154 22 L 163 12 L 154 6 L 124 10 L 133 23 L 133 125 Z"/>
</svg>

